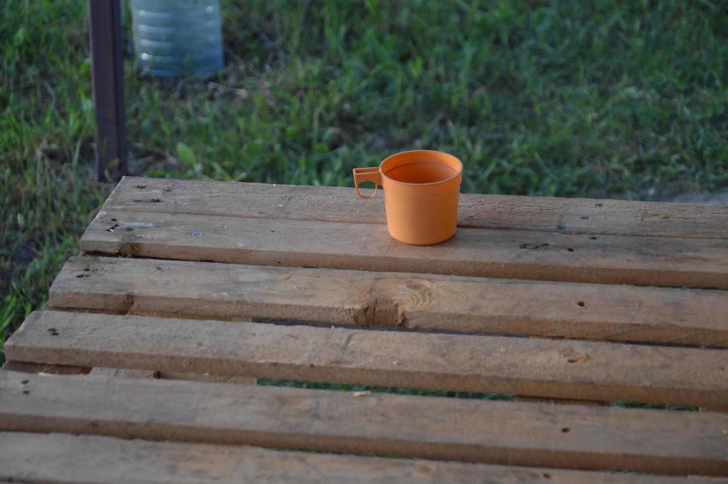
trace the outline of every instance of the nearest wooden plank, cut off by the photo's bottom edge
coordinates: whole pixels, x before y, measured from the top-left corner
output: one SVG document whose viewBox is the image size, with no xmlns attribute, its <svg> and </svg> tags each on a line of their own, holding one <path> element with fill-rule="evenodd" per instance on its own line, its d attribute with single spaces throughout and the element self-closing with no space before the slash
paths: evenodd
<svg viewBox="0 0 728 484">
<path fill-rule="evenodd" d="M 64 484 L 686 482 L 681 477 L 220 448 L 93 435 L 0 432 L 0 480 L 4 479 Z M 715 480 L 701 477 L 697 482 Z"/>
</svg>

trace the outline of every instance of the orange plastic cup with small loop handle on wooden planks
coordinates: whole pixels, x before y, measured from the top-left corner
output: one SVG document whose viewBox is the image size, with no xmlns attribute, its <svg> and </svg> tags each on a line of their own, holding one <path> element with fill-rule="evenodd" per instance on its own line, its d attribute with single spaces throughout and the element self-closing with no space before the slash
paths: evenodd
<svg viewBox="0 0 728 484">
<path fill-rule="evenodd" d="M 376 183 L 369 197 L 359 191 L 365 181 Z M 405 244 L 437 244 L 455 234 L 461 181 L 462 162 L 442 151 L 404 151 L 379 167 L 354 169 L 359 198 L 374 198 L 379 185 L 384 189 L 389 235 Z"/>
</svg>

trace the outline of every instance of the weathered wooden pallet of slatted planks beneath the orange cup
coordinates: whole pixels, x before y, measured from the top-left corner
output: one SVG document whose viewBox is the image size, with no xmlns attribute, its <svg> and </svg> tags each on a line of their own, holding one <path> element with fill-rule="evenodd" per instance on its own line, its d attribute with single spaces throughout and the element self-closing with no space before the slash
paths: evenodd
<svg viewBox="0 0 728 484">
<path fill-rule="evenodd" d="M 464 195 L 413 247 L 352 192 L 124 178 L 5 345 L 0 481 L 728 476 L 727 414 L 588 405 L 728 408 L 728 207 Z"/>
</svg>

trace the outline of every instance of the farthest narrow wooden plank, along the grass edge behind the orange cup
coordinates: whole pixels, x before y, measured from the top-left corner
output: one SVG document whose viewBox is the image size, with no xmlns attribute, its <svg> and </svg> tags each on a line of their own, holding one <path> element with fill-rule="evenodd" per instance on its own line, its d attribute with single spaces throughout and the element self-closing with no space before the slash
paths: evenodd
<svg viewBox="0 0 728 484">
<path fill-rule="evenodd" d="M 360 200 L 351 188 L 125 177 L 103 210 L 385 223 L 383 202 L 384 197 Z M 565 234 L 726 239 L 728 207 L 461 194 L 458 225 Z"/>
</svg>

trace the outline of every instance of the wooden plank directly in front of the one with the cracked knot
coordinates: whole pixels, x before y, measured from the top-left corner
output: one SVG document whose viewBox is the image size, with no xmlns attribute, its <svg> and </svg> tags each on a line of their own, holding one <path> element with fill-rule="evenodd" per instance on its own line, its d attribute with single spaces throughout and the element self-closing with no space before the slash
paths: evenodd
<svg viewBox="0 0 728 484">
<path fill-rule="evenodd" d="M 576 400 L 728 405 L 728 352 L 42 311 L 11 360 Z"/>
</svg>

